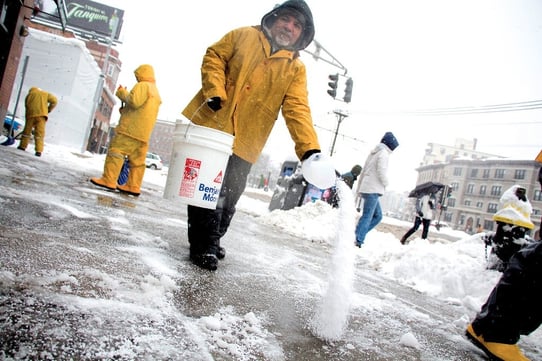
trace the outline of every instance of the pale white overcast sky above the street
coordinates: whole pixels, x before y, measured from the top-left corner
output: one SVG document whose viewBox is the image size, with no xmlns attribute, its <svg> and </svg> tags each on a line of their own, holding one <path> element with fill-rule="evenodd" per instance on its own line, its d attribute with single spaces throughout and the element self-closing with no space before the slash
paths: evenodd
<svg viewBox="0 0 542 361">
<path fill-rule="evenodd" d="M 259 24 L 277 1 L 102 0 L 125 10 L 118 47 L 120 82 L 133 86 L 142 63 L 156 69 L 160 119 L 174 121 L 199 89 L 207 46 L 233 28 Z M 412 189 L 427 143 L 477 139 L 477 150 L 534 159 L 542 134 L 542 2 L 538 0 L 308 1 L 315 39 L 347 68 L 352 102 L 334 101 L 327 76 L 343 73 L 307 53 L 310 103 L 322 151 L 339 171 L 363 165 L 386 131 L 400 146 L 390 158 L 390 190 Z M 314 50 L 312 44 L 308 50 Z M 512 105 L 509 105 L 512 104 Z M 496 106 L 496 107 L 495 107 Z M 519 110 L 535 108 L 534 110 Z M 472 114 L 470 109 L 476 108 Z M 447 109 L 443 111 L 443 109 Z M 491 112 L 488 112 L 491 110 Z M 285 146 L 291 144 L 291 146 Z M 282 120 L 264 152 L 293 157 Z"/>
</svg>

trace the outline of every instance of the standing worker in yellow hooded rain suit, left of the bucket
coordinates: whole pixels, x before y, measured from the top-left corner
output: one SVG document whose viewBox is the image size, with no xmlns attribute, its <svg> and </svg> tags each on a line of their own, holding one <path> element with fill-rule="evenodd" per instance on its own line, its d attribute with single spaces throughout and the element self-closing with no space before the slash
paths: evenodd
<svg viewBox="0 0 542 361">
<path fill-rule="evenodd" d="M 141 183 L 145 174 L 149 138 L 162 99 L 156 87 L 154 69 L 151 65 L 140 65 L 134 74 L 137 84 L 132 90 L 128 91 L 125 87 L 119 86 L 115 93 L 123 104 L 120 108 L 119 124 L 109 145 L 102 177 L 91 178 L 90 182 L 137 197 L 141 193 Z M 130 172 L 126 184 L 119 185 L 117 179 L 125 157 L 128 158 Z"/>
</svg>

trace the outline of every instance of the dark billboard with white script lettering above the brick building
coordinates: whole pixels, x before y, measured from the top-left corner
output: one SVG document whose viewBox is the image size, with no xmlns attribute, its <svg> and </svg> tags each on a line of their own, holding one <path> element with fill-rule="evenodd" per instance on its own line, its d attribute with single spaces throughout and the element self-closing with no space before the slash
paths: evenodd
<svg viewBox="0 0 542 361">
<path fill-rule="evenodd" d="M 58 22 L 58 7 L 54 0 L 41 0 L 37 18 Z M 67 28 L 76 32 L 119 39 L 124 10 L 89 0 L 64 0 Z M 115 26 L 116 24 L 116 26 Z M 115 29 L 116 28 L 116 29 Z"/>
</svg>

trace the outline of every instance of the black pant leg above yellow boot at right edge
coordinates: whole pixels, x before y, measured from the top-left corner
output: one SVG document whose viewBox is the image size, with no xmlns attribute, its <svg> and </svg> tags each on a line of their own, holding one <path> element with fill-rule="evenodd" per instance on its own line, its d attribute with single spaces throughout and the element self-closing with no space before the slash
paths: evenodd
<svg viewBox="0 0 542 361">
<path fill-rule="evenodd" d="M 542 323 L 542 242 L 516 252 L 472 322 L 485 341 L 515 344 Z"/>
</svg>

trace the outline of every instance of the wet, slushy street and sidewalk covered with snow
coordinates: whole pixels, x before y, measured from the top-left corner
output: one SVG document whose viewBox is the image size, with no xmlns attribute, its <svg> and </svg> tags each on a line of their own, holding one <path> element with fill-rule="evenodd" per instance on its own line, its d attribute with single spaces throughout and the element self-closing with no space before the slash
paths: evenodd
<svg viewBox="0 0 542 361">
<path fill-rule="evenodd" d="M 500 276 L 479 236 L 402 246 L 382 224 L 356 248 L 353 207 L 269 212 L 247 190 L 209 272 L 160 171 L 134 198 L 89 183 L 103 156 L 0 158 L 0 360 L 486 360 L 464 337 Z M 542 359 L 542 330 L 519 346 Z"/>
</svg>

